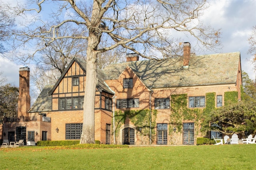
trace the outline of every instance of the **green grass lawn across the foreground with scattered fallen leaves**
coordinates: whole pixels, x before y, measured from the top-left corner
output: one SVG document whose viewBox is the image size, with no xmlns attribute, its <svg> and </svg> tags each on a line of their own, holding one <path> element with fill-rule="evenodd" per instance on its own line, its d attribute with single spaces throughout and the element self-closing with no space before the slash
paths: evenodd
<svg viewBox="0 0 256 170">
<path fill-rule="evenodd" d="M 256 145 L 0 149 L 3 170 L 255 170 Z"/>
</svg>

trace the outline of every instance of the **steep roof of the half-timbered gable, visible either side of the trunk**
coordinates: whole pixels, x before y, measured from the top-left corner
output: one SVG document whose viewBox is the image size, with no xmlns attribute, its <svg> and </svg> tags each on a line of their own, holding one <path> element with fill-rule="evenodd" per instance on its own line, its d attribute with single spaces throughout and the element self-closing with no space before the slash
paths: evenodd
<svg viewBox="0 0 256 170">
<path fill-rule="evenodd" d="M 49 95 L 52 95 L 52 93 L 54 92 L 54 90 L 56 89 L 56 87 L 58 86 L 58 84 L 60 83 L 60 81 L 65 76 L 66 72 L 68 72 L 68 69 L 72 66 L 72 64 L 74 62 L 78 63 L 78 65 L 82 68 L 82 70 L 84 72 L 86 72 L 86 61 L 74 57 L 72 59 L 72 61 L 68 64 L 67 68 L 64 70 L 64 72 L 62 73 L 62 75 L 60 76 L 59 80 L 56 82 L 56 84 L 52 88 L 52 90 L 49 92 Z M 102 70 L 100 70 L 100 69 L 97 69 L 97 76 L 98 76 L 97 88 L 100 88 L 101 90 L 104 90 L 105 92 L 113 94 L 113 91 L 104 82 L 104 77 L 105 77 L 104 72 Z"/>
</svg>

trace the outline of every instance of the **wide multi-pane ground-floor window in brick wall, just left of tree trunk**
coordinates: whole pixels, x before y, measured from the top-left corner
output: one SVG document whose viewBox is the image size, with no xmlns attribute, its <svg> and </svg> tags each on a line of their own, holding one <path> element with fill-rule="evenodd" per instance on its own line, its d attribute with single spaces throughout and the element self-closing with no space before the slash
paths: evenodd
<svg viewBox="0 0 256 170">
<path fill-rule="evenodd" d="M 83 129 L 83 123 L 66 124 L 66 139 L 80 139 Z"/>
</svg>

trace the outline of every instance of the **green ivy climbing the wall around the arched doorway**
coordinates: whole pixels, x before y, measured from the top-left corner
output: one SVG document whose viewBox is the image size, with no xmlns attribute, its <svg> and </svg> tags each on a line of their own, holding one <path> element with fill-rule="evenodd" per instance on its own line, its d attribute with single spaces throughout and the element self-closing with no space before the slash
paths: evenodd
<svg viewBox="0 0 256 170">
<path fill-rule="evenodd" d="M 151 140 L 153 141 L 156 135 L 154 128 L 156 127 L 156 110 L 143 109 L 143 110 L 128 110 L 128 111 L 115 111 L 115 137 L 118 142 L 118 135 L 120 127 L 125 124 L 127 117 L 134 124 L 139 131 L 140 144 L 148 144 L 150 141 L 150 121 L 151 121 Z"/>
</svg>

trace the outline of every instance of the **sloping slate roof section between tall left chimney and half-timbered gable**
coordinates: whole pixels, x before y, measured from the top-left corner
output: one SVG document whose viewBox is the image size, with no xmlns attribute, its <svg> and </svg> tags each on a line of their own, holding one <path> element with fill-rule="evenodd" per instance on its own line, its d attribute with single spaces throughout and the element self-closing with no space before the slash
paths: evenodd
<svg viewBox="0 0 256 170">
<path fill-rule="evenodd" d="M 44 86 L 44 89 L 28 112 L 52 111 L 52 96 L 49 96 L 48 92 L 52 90 L 53 86 L 54 85 Z"/>
</svg>

